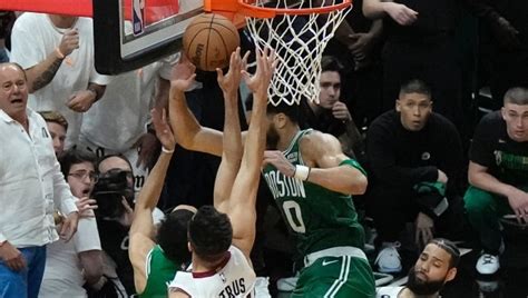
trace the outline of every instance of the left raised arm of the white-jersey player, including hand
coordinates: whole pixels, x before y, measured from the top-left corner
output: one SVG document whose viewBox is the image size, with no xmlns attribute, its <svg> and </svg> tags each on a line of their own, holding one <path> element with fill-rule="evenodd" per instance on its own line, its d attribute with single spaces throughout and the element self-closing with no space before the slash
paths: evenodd
<svg viewBox="0 0 528 298">
<path fill-rule="evenodd" d="M 218 85 L 224 95 L 224 140 L 222 162 L 216 172 L 214 189 L 214 206 L 221 212 L 227 212 L 228 198 L 233 189 L 236 173 L 242 160 L 242 136 L 241 123 L 238 121 L 238 87 L 242 79 L 242 70 L 245 69 L 248 53 L 241 57 L 241 49 L 237 48 L 231 54 L 229 71 L 224 76 L 221 69 L 216 69 Z"/>
</svg>

